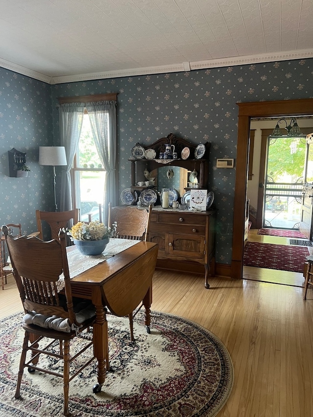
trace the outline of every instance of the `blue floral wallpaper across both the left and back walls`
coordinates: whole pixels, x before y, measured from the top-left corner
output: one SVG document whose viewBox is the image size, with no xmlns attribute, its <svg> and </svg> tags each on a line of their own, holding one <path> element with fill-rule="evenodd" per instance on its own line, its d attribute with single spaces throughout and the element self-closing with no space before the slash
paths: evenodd
<svg viewBox="0 0 313 417">
<path fill-rule="evenodd" d="M 51 200 L 47 201 L 50 197 L 48 174 L 45 172 L 44 177 L 42 168 L 35 161 L 38 158 L 39 145 L 50 144 L 52 140 L 55 145 L 59 145 L 57 97 L 117 92 L 119 193 L 130 186 L 131 167 L 128 158 L 136 142 L 148 145 L 170 132 L 184 137 L 193 144 L 203 141 L 211 142 L 208 191 L 214 192 L 214 204 L 218 209 L 216 261 L 226 264 L 231 263 L 235 169 L 216 169 L 216 158 L 235 158 L 236 166 L 238 115 L 236 103 L 313 97 L 313 59 L 93 80 L 54 86 L 47 86 L 34 80 L 31 83 L 27 77 L 0 68 L 1 76 L 1 84 L 11 83 L 11 86 L 5 86 L 3 90 L 1 85 L 0 89 L 2 91 L 0 95 L 2 149 L 0 187 L 1 195 L 4 196 L 0 203 L 2 222 L 2 213 L 5 213 L 5 219 L 8 215 L 17 217 L 22 219 L 25 227 L 32 229 L 32 211 L 29 208 L 25 218 L 23 217 L 21 206 L 24 204 L 21 205 L 21 201 L 24 203 L 26 199 L 27 205 L 29 205 L 28 200 L 31 200 L 36 208 L 40 204 L 41 206 L 50 204 L 53 207 Z M 12 80 L 14 80 L 13 83 Z M 52 106 L 49 108 L 49 105 L 45 107 L 44 103 L 49 102 L 50 92 Z M 19 98 L 16 99 L 15 95 Z M 29 103 L 30 100 L 34 101 L 35 109 L 29 115 L 26 112 L 26 115 L 23 112 L 24 102 Z M 13 106 L 9 108 L 13 102 L 16 110 Z M 4 113 L 3 107 L 6 111 L 5 115 L 1 116 Z M 39 113 L 40 110 L 42 113 Z M 52 111 L 53 129 L 49 111 Z M 17 113 L 22 113 L 24 118 L 16 121 Z M 31 122 L 32 118 L 36 122 Z M 35 132 L 32 135 L 23 134 L 19 141 L 18 133 L 13 134 L 10 131 L 10 134 L 7 134 L 10 129 L 8 125 L 13 124 L 12 120 L 15 120 L 14 126 L 19 126 L 19 130 L 23 130 L 24 125 L 31 125 Z M 45 130 L 41 132 L 43 126 Z M 33 136 L 35 136 L 34 139 Z M 12 184 L 16 184 L 13 181 L 17 179 L 6 178 L 7 162 L 4 156 L 13 146 L 27 152 L 28 160 L 32 159 L 30 176 L 18 182 L 19 189 L 15 193 L 16 207 L 11 204 L 10 200 Z M 45 170 L 48 168 L 45 167 Z M 27 182 L 27 188 L 22 188 L 22 181 Z M 33 189 L 37 190 L 37 196 L 34 196 L 36 192 L 33 192 Z M 36 197 L 35 201 L 34 197 Z M 45 199 L 44 203 L 40 203 L 42 197 Z"/>
</svg>

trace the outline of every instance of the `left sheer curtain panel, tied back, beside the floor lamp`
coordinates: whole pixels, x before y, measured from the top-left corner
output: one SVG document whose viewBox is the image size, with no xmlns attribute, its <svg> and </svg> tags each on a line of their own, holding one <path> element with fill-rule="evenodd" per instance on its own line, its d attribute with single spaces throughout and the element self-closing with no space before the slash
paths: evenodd
<svg viewBox="0 0 313 417">
<path fill-rule="evenodd" d="M 60 144 L 65 147 L 67 168 L 61 176 L 61 211 L 73 209 L 70 170 L 77 150 L 82 129 L 85 103 L 64 103 L 59 105 Z"/>
</svg>

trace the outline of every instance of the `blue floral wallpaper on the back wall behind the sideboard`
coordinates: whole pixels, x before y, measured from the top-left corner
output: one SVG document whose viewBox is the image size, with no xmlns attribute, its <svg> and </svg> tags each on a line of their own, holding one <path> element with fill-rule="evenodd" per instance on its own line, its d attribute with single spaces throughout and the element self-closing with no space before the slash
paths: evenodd
<svg viewBox="0 0 313 417">
<path fill-rule="evenodd" d="M 236 103 L 313 97 L 313 59 L 56 85 L 54 126 L 56 97 L 106 92 L 118 93 L 119 192 L 130 186 L 128 158 L 136 142 L 148 145 L 171 132 L 193 144 L 211 142 L 208 191 L 218 209 L 216 261 L 230 264 L 235 169 L 216 169 L 216 158 L 236 163 Z"/>
</svg>

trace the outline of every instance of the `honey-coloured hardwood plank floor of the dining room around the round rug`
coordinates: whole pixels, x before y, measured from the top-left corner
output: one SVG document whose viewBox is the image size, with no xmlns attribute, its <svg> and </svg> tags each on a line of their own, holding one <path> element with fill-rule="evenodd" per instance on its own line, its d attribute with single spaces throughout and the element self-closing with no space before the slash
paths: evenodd
<svg viewBox="0 0 313 417">
<path fill-rule="evenodd" d="M 302 288 L 289 285 L 218 277 L 210 285 L 199 275 L 156 270 L 152 326 L 153 310 L 163 311 L 224 343 L 235 377 L 217 417 L 312 417 L 313 291 L 303 301 Z M 12 276 L 0 302 L 1 317 L 21 310 Z"/>
</svg>

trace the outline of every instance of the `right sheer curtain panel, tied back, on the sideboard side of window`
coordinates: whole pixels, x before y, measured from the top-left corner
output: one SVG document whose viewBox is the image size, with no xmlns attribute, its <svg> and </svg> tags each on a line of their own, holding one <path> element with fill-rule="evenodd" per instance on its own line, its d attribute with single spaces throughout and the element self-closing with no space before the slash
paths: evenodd
<svg viewBox="0 0 313 417">
<path fill-rule="evenodd" d="M 104 183 L 104 219 L 107 219 L 108 204 L 117 204 L 116 199 L 116 101 L 86 103 L 92 135 L 101 162 L 106 170 Z"/>
</svg>

